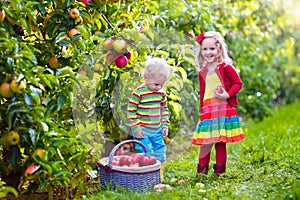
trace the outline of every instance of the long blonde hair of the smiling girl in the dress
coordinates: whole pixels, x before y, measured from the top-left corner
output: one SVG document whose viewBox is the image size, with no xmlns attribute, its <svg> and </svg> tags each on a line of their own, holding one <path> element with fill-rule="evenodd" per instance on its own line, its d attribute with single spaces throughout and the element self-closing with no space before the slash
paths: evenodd
<svg viewBox="0 0 300 200">
<path fill-rule="evenodd" d="M 206 33 L 204 33 L 204 38 L 203 40 L 205 40 L 206 38 L 214 38 L 216 40 L 216 45 L 220 48 L 220 57 L 219 57 L 219 63 L 223 63 L 226 62 L 228 64 L 232 64 L 232 60 L 231 58 L 229 58 L 228 56 L 228 52 L 227 52 L 227 45 L 225 43 L 225 39 L 222 37 L 222 35 L 219 32 L 216 31 L 208 31 Z M 203 41 L 202 40 L 202 41 Z M 205 67 L 206 63 L 204 61 L 203 56 L 201 55 L 201 43 L 202 41 L 199 43 L 197 43 L 197 49 L 195 52 L 195 64 L 197 66 L 198 71 L 202 71 L 203 68 Z"/>
</svg>

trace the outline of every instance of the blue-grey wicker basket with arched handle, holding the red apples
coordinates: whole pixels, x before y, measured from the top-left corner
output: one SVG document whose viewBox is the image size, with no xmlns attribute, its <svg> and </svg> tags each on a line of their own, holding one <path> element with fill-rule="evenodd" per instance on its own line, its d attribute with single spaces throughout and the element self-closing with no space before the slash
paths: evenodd
<svg viewBox="0 0 300 200">
<path fill-rule="evenodd" d="M 100 184 L 103 188 L 111 186 L 113 189 L 122 187 L 135 192 L 146 192 L 153 190 L 153 187 L 161 183 L 160 162 L 150 166 L 132 168 L 128 166 L 113 166 L 112 161 L 115 152 L 126 143 L 137 143 L 142 146 L 147 155 L 145 146 L 137 140 L 126 140 L 116 145 L 109 154 L 109 157 L 102 158 L 100 167 Z"/>
</svg>

